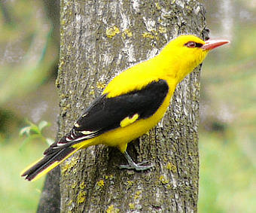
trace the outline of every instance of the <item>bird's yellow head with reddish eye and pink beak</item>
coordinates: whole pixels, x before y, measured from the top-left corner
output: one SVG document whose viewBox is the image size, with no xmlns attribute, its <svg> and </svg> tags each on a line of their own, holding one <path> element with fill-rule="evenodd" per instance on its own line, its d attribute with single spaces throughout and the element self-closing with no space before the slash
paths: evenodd
<svg viewBox="0 0 256 213">
<path fill-rule="evenodd" d="M 187 74 L 192 72 L 206 58 L 209 50 L 227 44 L 227 40 L 209 39 L 203 41 L 194 35 L 180 35 L 170 41 L 163 48 L 160 55 L 166 57 L 175 70 L 175 75 L 181 81 Z"/>
</svg>

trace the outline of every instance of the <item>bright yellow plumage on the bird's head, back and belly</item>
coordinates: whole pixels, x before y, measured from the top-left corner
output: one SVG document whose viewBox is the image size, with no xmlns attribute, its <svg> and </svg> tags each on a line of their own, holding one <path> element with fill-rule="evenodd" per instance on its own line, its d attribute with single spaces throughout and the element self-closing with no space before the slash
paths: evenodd
<svg viewBox="0 0 256 213">
<path fill-rule="evenodd" d="M 141 90 L 142 87 L 145 87 L 145 85 L 152 81 L 164 79 L 169 85 L 169 93 L 153 116 L 131 123 L 130 126 L 113 129 L 110 132 L 100 135 L 99 141 L 102 144 L 117 146 L 123 152 L 126 150 L 126 144 L 128 142 L 148 132 L 149 129 L 152 129 L 162 119 L 177 84 L 188 73 L 192 72 L 197 65 L 200 65 L 208 53 L 208 50 L 191 50 L 185 48 L 184 44 L 187 41 L 205 44 L 203 40 L 194 35 L 180 36 L 167 44 L 160 54 L 153 59 L 128 68 L 108 84 L 103 94 L 106 93 L 108 97 L 115 97 L 132 90 Z M 181 58 L 181 56 L 186 56 L 187 58 Z"/>
</svg>

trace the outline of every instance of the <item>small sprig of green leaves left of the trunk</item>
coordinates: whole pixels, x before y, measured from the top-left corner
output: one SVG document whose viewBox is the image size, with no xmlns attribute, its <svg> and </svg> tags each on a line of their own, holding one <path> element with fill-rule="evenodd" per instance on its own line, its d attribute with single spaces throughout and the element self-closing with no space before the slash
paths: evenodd
<svg viewBox="0 0 256 213">
<path fill-rule="evenodd" d="M 45 137 L 42 132 L 45 127 L 50 126 L 50 123 L 45 120 L 42 120 L 38 125 L 29 120 L 26 120 L 26 123 L 29 123 L 29 126 L 25 126 L 20 129 L 20 135 L 26 135 L 27 138 L 23 141 L 20 148 L 23 148 L 23 146 L 29 141 L 35 141 L 35 139 L 45 141 L 47 145 L 51 145 L 54 142 L 52 138 Z"/>
</svg>

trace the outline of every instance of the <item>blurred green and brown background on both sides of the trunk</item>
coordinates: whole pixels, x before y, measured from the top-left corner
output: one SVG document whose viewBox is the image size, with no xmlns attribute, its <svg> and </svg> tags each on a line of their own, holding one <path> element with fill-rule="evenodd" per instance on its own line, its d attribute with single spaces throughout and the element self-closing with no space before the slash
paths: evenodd
<svg viewBox="0 0 256 213">
<path fill-rule="evenodd" d="M 211 37 L 232 43 L 203 64 L 199 212 L 256 212 L 256 1 L 200 2 Z M 47 120 L 43 133 L 55 138 L 58 1 L 1 1 L 0 26 L 0 211 L 35 212 L 43 180 L 19 174 L 47 143 L 23 145 L 19 132 L 25 118 Z"/>
</svg>

